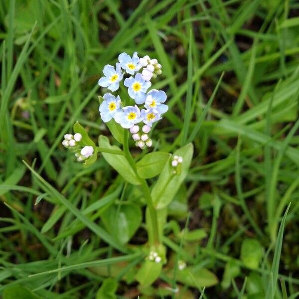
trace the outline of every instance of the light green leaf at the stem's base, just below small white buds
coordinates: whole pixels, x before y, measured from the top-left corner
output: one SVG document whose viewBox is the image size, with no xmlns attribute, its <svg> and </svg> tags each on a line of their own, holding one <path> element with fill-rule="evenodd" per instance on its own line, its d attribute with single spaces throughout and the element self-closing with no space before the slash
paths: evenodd
<svg viewBox="0 0 299 299">
<path fill-rule="evenodd" d="M 146 260 L 136 274 L 136 280 L 147 287 L 150 286 L 160 275 L 162 263 Z"/>
</svg>

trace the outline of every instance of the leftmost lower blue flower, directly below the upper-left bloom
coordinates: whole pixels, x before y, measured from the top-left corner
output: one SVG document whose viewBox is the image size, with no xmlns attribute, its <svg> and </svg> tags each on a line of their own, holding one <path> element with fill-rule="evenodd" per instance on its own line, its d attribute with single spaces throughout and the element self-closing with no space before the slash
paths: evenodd
<svg viewBox="0 0 299 299">
<path fill-rule="evenodd" d="M 111 93 L 106 93 L 104 95 L 104 101 L 100 105 L 99 111 L 101 119 L 104 123 L 109 122 L 116 113 L 121 112 L 121 99 L 119 96 L 115 97 Z"/>
</svg>

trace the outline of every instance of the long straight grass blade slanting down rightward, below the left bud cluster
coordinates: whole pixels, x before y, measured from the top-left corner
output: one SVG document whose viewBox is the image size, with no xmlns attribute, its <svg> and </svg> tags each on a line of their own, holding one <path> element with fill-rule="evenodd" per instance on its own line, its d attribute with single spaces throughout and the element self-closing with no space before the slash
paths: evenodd
<svg viewBox="0 0 299 299">
<path fill-rule="evenodd" d="M 46 180 L 44 180 L 29 164 L 23 160 L 24 164 L 30 169 L 32 174 L 46 187 L 49 193 L 58 198 L 63 205 L 65 205 L 70 212 L 72 212 L 78 219 L 80 219 L 90 230 L 92 230 L 97 236 L 103 239 L 105 242 L 110 244 L 112 247 L 118 249 L 121 252 L 126 252 L 125 248 L 122 247 L 116 240 L 114 240 L 104 229 L 92 222 L 89 218 L 82 214 L 80 210 L 74 207 L 60 192 L 53 188 Z"/>
</svg>

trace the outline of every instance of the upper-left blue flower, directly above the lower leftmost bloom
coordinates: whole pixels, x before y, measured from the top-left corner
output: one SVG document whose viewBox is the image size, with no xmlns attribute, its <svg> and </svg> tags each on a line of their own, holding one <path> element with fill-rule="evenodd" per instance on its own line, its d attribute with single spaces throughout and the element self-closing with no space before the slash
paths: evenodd
<svg viewBox="0 0 299 299">
<path fill-rule="evenodd" d="M 120 87 L 120 81 L 123 79 L 124 73 L 122 73 L 121 65 L 117 62 L 116 68 L 107 64 L 104 66 L 103 73 L 105 77 L 99 80 L 99 85 L 107 87 L 111 91 L 116 91 Z"/>
</svg>

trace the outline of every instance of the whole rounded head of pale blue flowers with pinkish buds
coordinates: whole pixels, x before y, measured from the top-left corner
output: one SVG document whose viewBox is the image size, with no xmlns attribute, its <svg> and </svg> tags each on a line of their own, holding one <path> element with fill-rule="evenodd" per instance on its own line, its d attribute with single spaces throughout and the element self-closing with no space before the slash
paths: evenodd
<svg viewBox="0 0 299 299">
<path fill-rule="evenodd" d="M 151 86 L 150 79 L 161 74 L 161 65 L 148 55 L 139 58 L 137 52 L 134 52 L 132 57 L 122 53 L 118 59 L 119 62 L 115 67 L 109 64 L 104 67 L 104 77 L 100 78 L 99 85 L 114 92 L 119 89 L 125 73 L 132 75 L 124 80 L 132 105 L 122 106 L 120 96 L 108 92 L 104 94 L 104 101 L 99 108 L 101 119 L 104 123 L 114 119 L 123 128 L 130 129 L 136 146 L 144 149 L 152 145 L 148 135 L 152 124 L 160 120 L 162 114 L 168 110 L 168 106 L 163 104 L 167 98 L 164 91 L 156 89 L 148 91 Z M 138 125 L 142 123 L 143 127 Z M 141 127 L 143 133 L 139 133 Z"/>
</svg>

